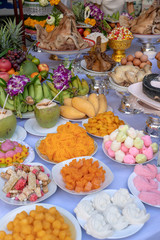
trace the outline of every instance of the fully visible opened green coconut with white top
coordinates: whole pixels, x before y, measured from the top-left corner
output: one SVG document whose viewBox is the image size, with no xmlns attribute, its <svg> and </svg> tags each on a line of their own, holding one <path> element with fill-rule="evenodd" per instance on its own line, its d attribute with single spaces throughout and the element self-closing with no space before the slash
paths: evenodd
<svg viewBox="0 0 160 240">
<path fill-rule="evenodd" d="M 36 104 L 34 109 L 36 120 L 43 128 L 54 127 L 60 116 L 59 106 L 54 102 L 50 104 L 48 102 L 50 102 L 49 99 L 43 99 Z"/>
</svg>

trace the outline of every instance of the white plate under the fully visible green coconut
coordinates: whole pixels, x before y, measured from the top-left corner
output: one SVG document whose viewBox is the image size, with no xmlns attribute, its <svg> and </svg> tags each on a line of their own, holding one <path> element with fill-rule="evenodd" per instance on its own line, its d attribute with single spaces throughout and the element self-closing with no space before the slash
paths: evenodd
<svg viewBox="0 0 160 240">
<path fill-rule="evenodd" d="M 60 118 L 59 118 L 59 120 L 60 120 Z M 58 126 L 60 126 L 60 125 L 62 125 L 62 124 L 65 124 L 66 122 L 68 122 L 68 121 L 66 121 L 65 120 L 65 122 L 64 123 L 60 123 L 59 124 L 59 120 L 58 120 L 58 122 L 57 122 L 57 127 Z M 64 120 L 64 119 L 63 119 Z M 63 121 L 62 120 L 62 121 Z M 31 128 L 30 126 L 32 126 L 34 123 L 36 122 L 36 119 L 35 118 L 30 118 L 30 119 L 28 119 L 26 122 L 25 122 L 25 124 L 24 124 L 24 128 L 25 128 L 25 130 L 28 132 L 28 133 L 30 133 L 30 134 L 32 134 L 32 135 L 34 135 L 34 136 L 38 136 L 38 137 L 46 137 L 47 136 L 47 134 L 48 134 L 48 132 L 47 133 L 40 133 L 40 132 L 36 132 L 35 130 L 33 130 L 33 128 Z M 56 127 L 56 126 L 55 126 Z M 53 127 L 54 128 L 54 127 Z M 44 128 L 45 129 L 45 128 Z M 49 128 L 46 128 L 47 130 L 49 129 Z M 52 131 L 51 133 L 56 133 L 57 132 L 57 128 L 56 128 L 56 131 Z"/>
</svg>

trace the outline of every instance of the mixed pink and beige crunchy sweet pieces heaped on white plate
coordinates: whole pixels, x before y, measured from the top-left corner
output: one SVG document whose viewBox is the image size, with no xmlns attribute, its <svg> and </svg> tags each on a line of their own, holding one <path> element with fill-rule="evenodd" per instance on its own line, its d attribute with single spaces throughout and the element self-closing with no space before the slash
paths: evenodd
<svg viewBox="0 0 160 240">
<path fill-rule="evenodd" d="M 51 182 L 49 175 L 45 173 L 43 166 L 15 164 L 1 173 L 6 180 L 3 192 L 6 197 L 17 201 L 37 201 L 46 194 L 48 184 Z"/>
</svg>

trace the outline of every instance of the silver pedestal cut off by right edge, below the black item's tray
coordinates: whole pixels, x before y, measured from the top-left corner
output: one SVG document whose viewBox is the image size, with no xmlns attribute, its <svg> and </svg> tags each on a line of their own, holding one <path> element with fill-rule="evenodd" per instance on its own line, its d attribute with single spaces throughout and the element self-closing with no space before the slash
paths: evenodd
<svg viewBox="0 0 160 240">
<path fill-rule="evenodd" d="M 160 118 L 156 116 L 149 117 L 144 131 L 151 137 L 160 138 Z"/>
</svg>

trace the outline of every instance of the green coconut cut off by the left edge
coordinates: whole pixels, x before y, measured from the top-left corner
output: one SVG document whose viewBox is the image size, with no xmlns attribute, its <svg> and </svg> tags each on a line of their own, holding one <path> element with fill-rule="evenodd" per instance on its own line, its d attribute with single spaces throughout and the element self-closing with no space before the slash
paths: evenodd
<svg viewBox="0 0 160 240">
<path fill-rule="evenodd" d="M 17 120 L 12 111 L 0 110 L 0 140 L 12 137 L 15 132 Z"/>
</svg>

